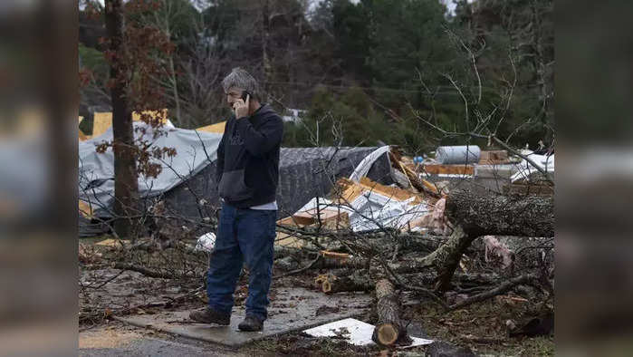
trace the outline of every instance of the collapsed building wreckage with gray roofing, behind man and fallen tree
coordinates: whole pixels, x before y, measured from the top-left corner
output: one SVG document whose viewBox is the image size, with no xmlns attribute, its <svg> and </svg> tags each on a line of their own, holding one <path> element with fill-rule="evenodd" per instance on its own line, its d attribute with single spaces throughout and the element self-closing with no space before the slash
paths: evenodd
<svg viewBox="0 0 633 357">
<path fill-rule="evenodd" d="M 155 160 L 156 178 L 139 177 L 141 207 L 157 202 L 176 219 L 177 226 L 209 222 L 219 207 L 216 150 L 224 123 L 198 130 L 165 125 L 154 137 L 148 124 L 134 121 L 135 135 L 146 135 L 157 147 L 174 148 L 177 155 Z M 111 149 L 95 146 L 112 140 L 112 130 L 79 142 L 80 236 L 108 232 L 114 214 L 114 166 Z M 553 155 L 524 151 L 548 173 Z M 277 203 L 280 224 L 309 226 L 334 222 L 353 231 L 379 226 L 399 230 L 446 231 L 441 221 L 443 197 L 456 188 L 498 193 L 551 194 L 553 187 L 540 170 L 505 150 L 483 151 L 476 146 L 440 147 L 435 159 L 409 158 L 395 147 L 282 148 Z M 541 175 L 541 176 L 540 176 Z M 191 228 L 191 227 L 189 227 Z"/>
</svg>

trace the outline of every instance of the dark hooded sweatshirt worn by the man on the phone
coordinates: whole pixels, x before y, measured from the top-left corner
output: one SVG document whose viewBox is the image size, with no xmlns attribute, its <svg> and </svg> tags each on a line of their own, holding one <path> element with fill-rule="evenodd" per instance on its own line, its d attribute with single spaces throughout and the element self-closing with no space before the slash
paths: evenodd
<svg viewBox="0 0 633 357">
<path fill-rule="evenodd" d="M 250 117 L 226 122 L 217 147 L 216 182 L 227 204 L 248 208 L 275 200 L 282 137 L 282 118 L 267 104 Z"/>
</svg>

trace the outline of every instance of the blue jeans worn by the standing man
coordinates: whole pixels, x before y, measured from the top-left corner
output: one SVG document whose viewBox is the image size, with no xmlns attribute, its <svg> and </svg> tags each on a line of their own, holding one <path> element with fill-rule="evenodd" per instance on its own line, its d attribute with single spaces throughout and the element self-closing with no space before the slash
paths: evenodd
<svg viewBox="0 0 633 357">
<path fill-rule="evenodd" d="M 209 307 L 231 313 L 235 285 L 246 262 L 249 270 L 246 314 L 266 319 L 273 277 L 276 218 L 276 210 L 236 208 L 223 203 L 216 247 L 206 276 Z"/>
</svg>

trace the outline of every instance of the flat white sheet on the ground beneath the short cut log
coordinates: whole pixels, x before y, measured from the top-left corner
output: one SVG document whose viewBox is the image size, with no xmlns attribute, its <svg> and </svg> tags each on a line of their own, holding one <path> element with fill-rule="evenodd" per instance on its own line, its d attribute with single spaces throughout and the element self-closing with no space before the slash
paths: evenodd
<svg viewBox="0 0 633 357">
<path fill-rule="evenodd" d="M 307 333 L 314 337 L 344 336 L 349 338 L 348 342 L 350 344 L 365 346 L 374 343 L 371 341 L 371 334 L 374 332 L 374 327 L 375 326 L 373 324 L 363 323 L 362 321 L 350 318 L 335 321 L 333 323 L 321 324 L 321 326 L 304 330 L 303 333 Z M 411 339 L 413 340 L 413 343 L 402 347 L 416 347 L 433 343 L 433 340 L 427 340 L 419 337 L 411 337 Z"/>
</svg>

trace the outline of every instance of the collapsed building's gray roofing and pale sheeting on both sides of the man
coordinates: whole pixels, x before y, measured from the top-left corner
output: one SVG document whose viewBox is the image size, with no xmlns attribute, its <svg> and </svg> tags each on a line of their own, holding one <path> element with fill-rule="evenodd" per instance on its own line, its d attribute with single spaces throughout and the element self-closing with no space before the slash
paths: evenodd
<svg viewBox="0 0 633 357">
<path fill-rule="evenodd" d="M 135 122 L 135 128 L 147 127 Z M 173 158 L 157 161 L 162 170 L 157 178 L 139 177 L 141 206 L 162 200 L 168 212 L 184 221 L 213 217 L 219 206 L 216 183 L 216 150 L 221 134 L 203 130 L 171 128 L 154 140 L 158 147 L 175 148 Z M 135 135 L 152 135 L 149 128 Z M 113 217 L 114 165 L 111 149 L 97 153 L 95 145 L 112 139 L 111 129 L 101 136 L 79 143 L 80 236 L 107 231 L 101 221 Z M 313 197 L 327 195 L 338 178 L 348 177 L 376 148 L 282 148 L 277 203 L 280 217 L 292 215 Z M 373 162 L 367 176 L 388 185 L 388 158 Z M 90 221 L 90 222 L 89 222 Z"/>
</svg>

